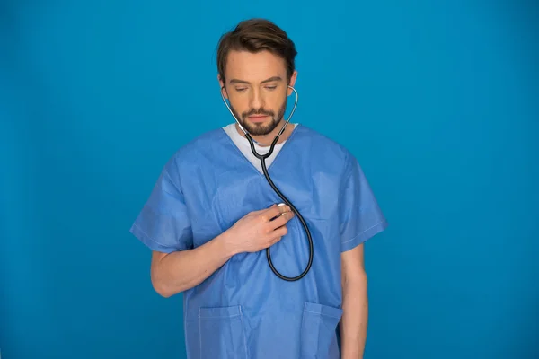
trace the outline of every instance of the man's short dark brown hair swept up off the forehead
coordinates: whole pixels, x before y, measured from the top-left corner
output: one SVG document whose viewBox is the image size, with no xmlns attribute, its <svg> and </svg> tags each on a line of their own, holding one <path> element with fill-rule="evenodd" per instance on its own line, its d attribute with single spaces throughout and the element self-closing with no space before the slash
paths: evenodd
<svg viewBox="0 0 539 359">
<path fill-rule="evenodd" d="M 287 33 L 275 23 L 265 19 L 250 19 L 238 23 L 233 31 L 225 33 L 217 48 L 217 71 L 225 83 L 225 65 L 228 52 L 231 50 L 246 50 L 257 53 L 270 51 L 285 60 L 287 65 L 287 80 L 296 68 L 296 45 L 288 38 Z"/>
</svg>

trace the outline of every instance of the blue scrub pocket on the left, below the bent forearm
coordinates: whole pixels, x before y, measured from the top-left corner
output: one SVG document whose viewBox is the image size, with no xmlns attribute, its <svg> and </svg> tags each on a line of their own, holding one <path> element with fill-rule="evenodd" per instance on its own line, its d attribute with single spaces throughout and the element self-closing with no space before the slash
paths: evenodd
<svg viewBox="0 0 539 359">
<path fill-rule="evenodd" d="M 239 305 L 199 308 L 200 359 L 247 359 Z"/>
</svg>

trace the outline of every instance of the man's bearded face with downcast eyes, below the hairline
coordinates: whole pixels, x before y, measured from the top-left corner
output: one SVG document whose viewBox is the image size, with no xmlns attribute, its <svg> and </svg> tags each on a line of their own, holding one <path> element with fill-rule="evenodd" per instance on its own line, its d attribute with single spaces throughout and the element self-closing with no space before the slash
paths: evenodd
<svg viewBox="0 0 539 359">
<path fill-rule="evenodd" d="M 252 136 L 268 135 L 276 127 L 287 109 L 285 60 L 262 51 L 231 51 L 225 66 L 224 95 L 230 102 L 234 116 Z M 294 86 L 296 73 L 290 85 Z"/>
</svg>

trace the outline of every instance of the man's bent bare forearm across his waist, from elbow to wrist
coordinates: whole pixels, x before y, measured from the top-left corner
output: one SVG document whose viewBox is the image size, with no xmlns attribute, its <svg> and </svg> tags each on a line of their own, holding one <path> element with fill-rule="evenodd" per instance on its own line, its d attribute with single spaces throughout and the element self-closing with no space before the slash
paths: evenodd
<svg viewBox="0 0 539 359">
<path fill-rule="evenodd" d="M 157 293 L 170 297 L 203 282 L 230 259 L 234 252 L 226 234 L 193 250 L 172 252 L 152 266 L 152 283 Z"/>
</svg>

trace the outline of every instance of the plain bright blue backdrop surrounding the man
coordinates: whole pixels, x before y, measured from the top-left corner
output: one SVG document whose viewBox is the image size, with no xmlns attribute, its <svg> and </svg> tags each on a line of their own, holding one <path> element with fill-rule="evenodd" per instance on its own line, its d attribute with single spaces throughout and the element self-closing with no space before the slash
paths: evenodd
<svg viewBox="0 0 539 359">
<path fill-rule="evenodd" d="M 183 357 L 181 295 L 128 229 L 233 121 L 216 43 L 252 16 L 295 40 L 295 120 L 358 156 L 390 222 L 366 358 L 539 357 L 536 4 L 183 3 L 0 3 L 4 359 Z"/>
</svg>

